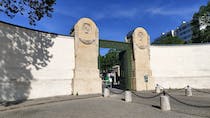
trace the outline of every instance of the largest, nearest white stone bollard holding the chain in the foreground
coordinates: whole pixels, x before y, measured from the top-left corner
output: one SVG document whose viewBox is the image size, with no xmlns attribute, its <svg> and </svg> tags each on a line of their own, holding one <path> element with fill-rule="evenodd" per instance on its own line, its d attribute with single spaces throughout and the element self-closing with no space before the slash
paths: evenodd
<svg viewBox="0 0 210 118">
<path fill-rule="evenodd" d="M 163 95 L 160 96 L 160 108 L 162 111 L 170 111 L 171 105 L 169 97 L 165 95 L 165 91 L 163 91 Z"/>
</svg>

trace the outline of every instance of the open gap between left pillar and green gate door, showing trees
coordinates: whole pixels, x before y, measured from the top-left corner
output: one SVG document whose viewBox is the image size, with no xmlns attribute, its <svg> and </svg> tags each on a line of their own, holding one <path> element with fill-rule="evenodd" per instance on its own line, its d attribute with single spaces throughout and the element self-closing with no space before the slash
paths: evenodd
<svg viewBox="0 0 210 118">
<path fill-rule="evenodd" d="M 100 77 L 103 80 L 103 85 L 106 87 L 120 88 L 121 66 L 120 55 L 121 50 L 113 48 L 100 48 L 99 54 L 99 69 Z"/>
</svg>

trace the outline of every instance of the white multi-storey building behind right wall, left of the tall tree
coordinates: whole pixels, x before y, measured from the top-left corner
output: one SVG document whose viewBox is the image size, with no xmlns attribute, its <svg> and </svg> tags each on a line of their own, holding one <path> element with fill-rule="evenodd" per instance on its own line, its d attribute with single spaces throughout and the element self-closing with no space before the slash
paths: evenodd
<svg viewBox="0 0 210 118">
<path fill-rule="evenodd" d="M 182 24 L 179 27 L 177 27 L 175 32 L 176 32 L 175 35 L 180 39 L 183 39 L 184 41 L 191 40 L 193 34 L 191 21 L 190 22 L 183 21 Z"/>
</svg>

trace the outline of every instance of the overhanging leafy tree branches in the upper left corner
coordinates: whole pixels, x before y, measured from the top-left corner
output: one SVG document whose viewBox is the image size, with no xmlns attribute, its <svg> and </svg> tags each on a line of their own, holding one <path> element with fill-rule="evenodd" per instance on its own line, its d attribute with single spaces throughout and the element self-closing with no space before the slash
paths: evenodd
<svg viewBox="0 0 210 118">
<path fill-rule="evenodd" d="M 43 17 L 52 17 L 56 0 L 1 0 L 0 13 L 14 18 L 18 13 L 26 15 L 30 25 L 36 25 Z"/>
</svg>

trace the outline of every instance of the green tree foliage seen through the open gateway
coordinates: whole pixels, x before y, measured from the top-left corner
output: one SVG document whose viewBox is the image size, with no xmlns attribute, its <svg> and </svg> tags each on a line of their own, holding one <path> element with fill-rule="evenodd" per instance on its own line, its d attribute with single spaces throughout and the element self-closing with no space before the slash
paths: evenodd
<svg viewBox="0 0 210 118">
<path fill-rule="evenodd" d="M 120 51 L 117 49 L 110 49 L 106 55 L 100 55 L 100 70 L 107 72 L 114 65 L 119 65 L 119 53 Z"/>
</svg>

